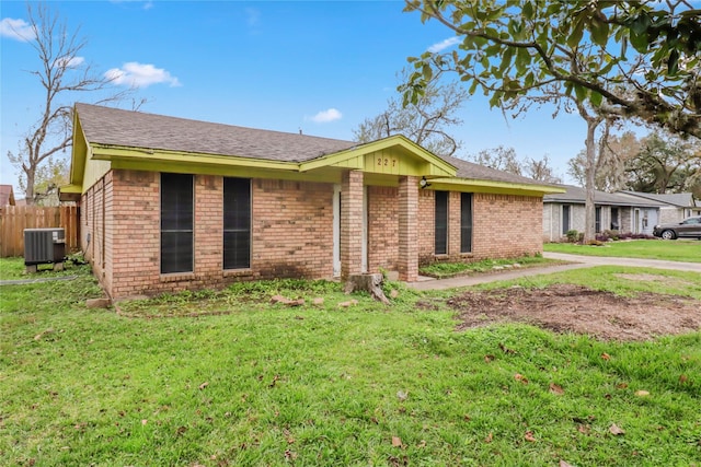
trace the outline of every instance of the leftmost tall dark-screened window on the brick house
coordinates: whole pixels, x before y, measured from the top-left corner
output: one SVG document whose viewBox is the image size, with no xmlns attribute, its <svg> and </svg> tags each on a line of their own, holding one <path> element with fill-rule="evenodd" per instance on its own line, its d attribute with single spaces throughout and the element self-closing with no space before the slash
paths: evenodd
<svg viewBox="0 0 701 467">
<path fill-rule="evenodd" d="M 193 176 L 161 174 L 161 273 L 193 270 Z"/>
</svg>

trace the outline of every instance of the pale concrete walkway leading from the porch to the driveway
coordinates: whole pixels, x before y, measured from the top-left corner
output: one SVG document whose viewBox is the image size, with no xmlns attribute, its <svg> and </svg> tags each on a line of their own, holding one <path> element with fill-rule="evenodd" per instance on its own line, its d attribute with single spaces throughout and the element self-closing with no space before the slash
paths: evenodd
<svg viewBox="0 0 701 467">
<path fill-rule="evenodd" d="M 433 279 L 422 277 L 417 282 L 407 283 L 415 290 L 445 290 L 457 287 L 478 285 L 499 280 L 520 279 L 528 276 L 549 275 L 568 271 L 571 269 L 591 268 L 595 266 L 629 266 L 633 268 L 674 269 L 677 271 L 693 271 L 701 273 L 701 262 L 678 262 L 659 259 L 611 258 L 604 256 L 567 255 L 564 253 L 543 253 L 543 257 L 570 261 L 566 265 L 543 266 L 525 269 L 509 269 L 479 276 L 463 276 L 450 279 Z"/>
</svg>

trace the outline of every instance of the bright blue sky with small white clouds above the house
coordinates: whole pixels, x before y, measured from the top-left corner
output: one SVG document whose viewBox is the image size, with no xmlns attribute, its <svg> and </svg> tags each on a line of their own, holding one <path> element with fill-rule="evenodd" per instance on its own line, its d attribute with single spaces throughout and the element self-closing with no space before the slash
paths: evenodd
<svg viewBox="0 0 701 467">
<path fill-rule="evenodd" d="M 406 57 L 452 37 L 445 26 L 402 12 L 402 1 L 47 4 L 69 30 L 80 27 L 85 61 L 123 86 L 138 86 L 136 96 L 148 100 L 142 112 L 347 140 L 397 94 Z M 27 72 L 41 65 L 36 52 L 8 27 L 21 31 L 26 16 L 24 1 L 0 2 L 0 183 L 15 190 L 18 173 L 5 154 L 16 151 L 43 105 L 43 90 Z M 505 119 L 484 96 L 472 96 L 463 125 L 452 129 L 462 141 L 457 155 L 513 147 L 521 159 L 547 154 L 566 176 L 566 161 L 584 148 L 585 125 L 551 114 Z"/>
</svg>

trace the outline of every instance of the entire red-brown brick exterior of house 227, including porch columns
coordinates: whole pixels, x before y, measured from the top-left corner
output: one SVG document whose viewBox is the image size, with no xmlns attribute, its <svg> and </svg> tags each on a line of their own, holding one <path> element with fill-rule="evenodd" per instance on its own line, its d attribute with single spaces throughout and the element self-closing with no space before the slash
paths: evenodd
<svg viewBox="0 0 701 467">
<path fill-rule="evenodd" d="M 368 271 L 398 270 L 416 280 L 418 265 L 439 260 L 516 257 L 542 250 L 542 198 L 473 195 L 473 248 L 460 253 L 460 194 L 448 198 L 448 254 L 434 250 L 434 191 L 417 178 L 367 188 Z M 364 174 L 342 179 L 342 276 L 361 269 Z M 160 174 L 114 170 L 82 197 L 82 245 L 113 297 L 223 287 L 235 280 L 331 278 L 334 185 L 251 180 L 251 267 L 222 270 L 223 178 L 194 176 L 194 268 L 160 272 Z M 90 241 L 88 241 L 90 236 Z"/>
</svg>

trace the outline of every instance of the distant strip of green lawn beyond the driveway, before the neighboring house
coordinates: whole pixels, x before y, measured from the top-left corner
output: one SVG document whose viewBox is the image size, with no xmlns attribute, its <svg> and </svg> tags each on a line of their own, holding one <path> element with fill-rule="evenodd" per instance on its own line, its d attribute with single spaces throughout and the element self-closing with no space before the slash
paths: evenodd
<svg viewBox="0 0 701 467">
<path fill-rule="evenodd" d="M 573 255 L 701 262 L 701 242 L 696 240 L 634 240 L 629 242 L 607 242 L 604 246 L 576 245 L 572 243 L 547 243 L 543 245 L 543 249 L 545 252 L 570 253 Z"/>
</svg>

